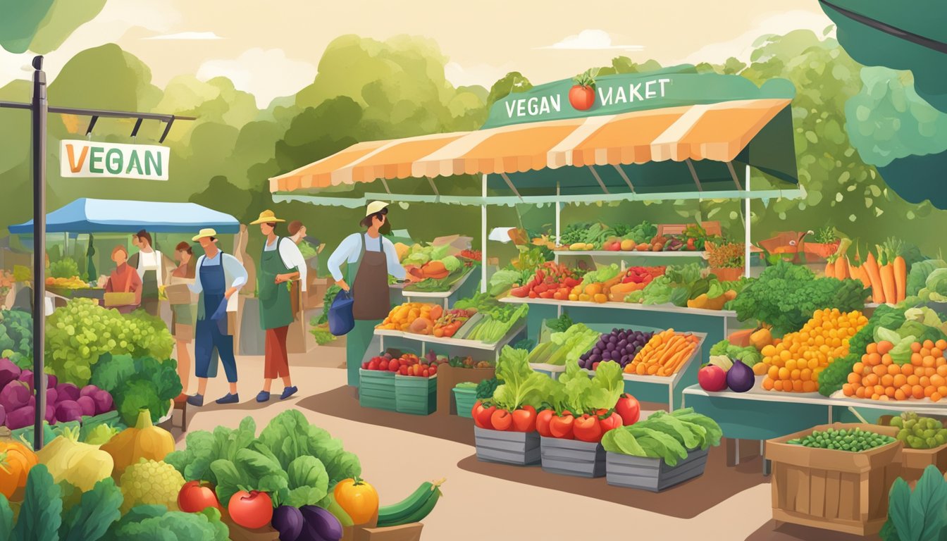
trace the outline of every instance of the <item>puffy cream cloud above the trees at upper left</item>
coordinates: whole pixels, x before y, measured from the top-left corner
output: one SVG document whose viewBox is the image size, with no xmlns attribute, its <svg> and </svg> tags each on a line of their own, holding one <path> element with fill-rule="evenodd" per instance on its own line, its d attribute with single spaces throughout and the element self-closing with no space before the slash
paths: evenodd
<svg viewBox="0 0 947 541">
<path fill-rule="evenodd" d="M 257 106 L 265 109 L 273 99 L 313 82 L 315 73 L 313 64 L 288 59 L 282 49 L 252 48 L 236 59 L 202 63 L 197 78 L 226 77 L 236 88 L 253 94 Z"/>
</svg>

